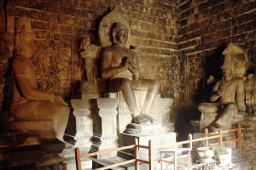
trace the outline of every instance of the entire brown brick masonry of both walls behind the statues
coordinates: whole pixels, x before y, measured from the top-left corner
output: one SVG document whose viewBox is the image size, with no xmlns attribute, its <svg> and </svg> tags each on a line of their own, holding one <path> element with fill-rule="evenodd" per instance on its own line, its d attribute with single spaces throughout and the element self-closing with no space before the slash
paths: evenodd
<svg viewBox="0 0 256 170">
<path fill-rule="evenodd" d="M 1 1 L 2 3 L 3 1 Z M 143 77 L 161 82 L 160 94 L 174 99 L 173 122 L 183 111 L 194 114 L 201 82 L 218 77 L 218 61 L 229 42 L 237 42 L 255 67 L 255 0 L 14 0 L 7 1 L 9 23 L 20 15 L 32 18 L 36 54 L 31 59 L 38 87 L 55 84 L 55 93 L 70 99 L 82 79 L 78 48 L 82 37 L 96 46 L 97 26 L 109 7 L 129 21 L 131 44 L 142 47 Z M 0 59 L 0 99 L 3 100 L 7 59 Z M 1 108 L 8 105 L 2 102 Z"/>
</svg>

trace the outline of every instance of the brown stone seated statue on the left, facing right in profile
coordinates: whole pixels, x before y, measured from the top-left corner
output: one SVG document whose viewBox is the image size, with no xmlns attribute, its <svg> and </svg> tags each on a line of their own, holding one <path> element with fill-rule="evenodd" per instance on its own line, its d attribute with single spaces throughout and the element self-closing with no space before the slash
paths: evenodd
<svg viewBox="0 0 256 170">
<path fill-rule="evenodd" d="M 15 121 L 51 121 L 56 139 L 62 140 L 67 126 L 69 109 L 60 95 L 40 90 L 36 72 L 29 58 L 34 54 L 35 31 L 31 20 L 21 16 L 16 22 L 15 56 L 12 59 L 13 95 L 10 114 Z"/>
</svg>

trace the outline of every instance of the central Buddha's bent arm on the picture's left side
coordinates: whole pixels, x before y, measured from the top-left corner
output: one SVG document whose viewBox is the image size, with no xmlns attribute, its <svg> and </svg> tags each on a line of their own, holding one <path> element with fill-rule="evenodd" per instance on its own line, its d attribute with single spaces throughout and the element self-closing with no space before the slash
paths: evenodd
<svg viewBox="0 0 256 170">
<path fill-rule="evenodd" d="M 111 66 L 111 60 L 112 60 L 113 53 L 111 53 L 108 50 L 103 50 L 102 53 L 102 61 L 101 61 L 101 76 L 102 78 L 110 78 L 117 74 L 119 74 L 122 71 L 125 71 L 128 69 L 129 60 L 125 59 L 123 65 L 119 65 L 116 67 Z"/>
</svg>

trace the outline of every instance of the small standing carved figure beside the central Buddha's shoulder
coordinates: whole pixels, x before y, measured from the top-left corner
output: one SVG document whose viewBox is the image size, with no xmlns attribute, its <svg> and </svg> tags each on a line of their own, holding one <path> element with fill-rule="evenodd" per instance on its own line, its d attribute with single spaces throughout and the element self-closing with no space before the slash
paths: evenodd
<svg viewBox="0 0 256 170">
<path fill-rule="evenodd" d="M 80 48 L 83 50 L 80 52 L 80 56 L 84 60 L 83 68 L 86 80 L 93 84 L 93 64 L 94 58 L 96 58 L 96 45 L 90 44 L 90 38 L 85 37 L 80 43 Z"/>
</svg>

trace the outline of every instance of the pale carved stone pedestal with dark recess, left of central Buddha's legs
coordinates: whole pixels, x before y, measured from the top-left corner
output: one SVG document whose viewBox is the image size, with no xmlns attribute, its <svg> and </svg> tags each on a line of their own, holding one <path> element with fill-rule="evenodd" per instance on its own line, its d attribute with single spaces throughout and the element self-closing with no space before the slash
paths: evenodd
<svg viewBox="0 0 256 170">
<path fill-rule="evenodd" d="M 116 131 L 118 99 L 72 99 L 71 104 L 76 118 L 74 147 L 79 147 L 83 153 L 118 147 Z M 109 156 L 115 155 L 113 153 Z"/>
</svg>

